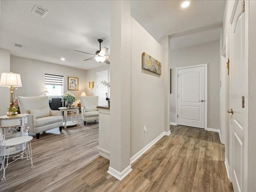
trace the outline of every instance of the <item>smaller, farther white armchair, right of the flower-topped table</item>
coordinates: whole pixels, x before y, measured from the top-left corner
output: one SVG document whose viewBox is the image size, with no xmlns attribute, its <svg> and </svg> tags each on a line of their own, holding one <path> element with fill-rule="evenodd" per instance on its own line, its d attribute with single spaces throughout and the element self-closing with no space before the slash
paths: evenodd
<svg viewBox="0 0 256 192">
<path fill-rule="evenodd" d="M 86 121 L 99 119 L 99 112 L 97 108 L 98 100 L 98 96 L 80 96 L 84 125 L 86 124 Z"/>
</svg>

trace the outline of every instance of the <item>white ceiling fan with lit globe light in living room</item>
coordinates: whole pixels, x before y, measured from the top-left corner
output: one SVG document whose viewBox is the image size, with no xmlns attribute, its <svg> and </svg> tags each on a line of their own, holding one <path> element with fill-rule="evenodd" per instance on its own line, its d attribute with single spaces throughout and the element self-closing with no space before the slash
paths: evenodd
<svg viewBox="0 0 256 192">
<path fill-rule="evenodd" d="M 98 42 L 101 44 L 103 42 L 103 40 L 102 39 L 98 39 Z M 81 53 L 86 53 L 86 52 L 82 52 L 82 51 L 78 51 L 78 50 L 74 50 L 74 51 L 81 52 Z M 89 59 L 85 59 L 84 61 L 95 59 L 99 63 L 105 62 L 106 64 L 110 64 L 110 62 L 107 60 L 107 59 L 110 58 L 110 56 L 106 56 L 107 52 L 108 52 L 108 48 L 103 47 L 101 49 L 101 47 L 100 47 L 100 50 L 96 51 L 95 54 L 86 53 L 86 54 L 89 54 L 89 55 L 93 55 L 94 57 L 89 58 Z"/>
</svg>

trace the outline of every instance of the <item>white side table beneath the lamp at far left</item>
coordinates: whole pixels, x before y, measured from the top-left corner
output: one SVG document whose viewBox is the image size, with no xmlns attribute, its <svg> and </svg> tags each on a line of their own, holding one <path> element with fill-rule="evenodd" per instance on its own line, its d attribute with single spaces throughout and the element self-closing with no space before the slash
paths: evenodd
<svg viewBox="0 0 256 192">
<path fill-rule="evenodd" d="M 0 116 L 0 128 L 2 129 L 3 135 L 5 135 L 5 128 L 20 126 L 20 133 L 23 136 L 24 125 L 28 122 L 28 114 L 18 114 L 17 116 Z M 15 147 L 10 147 L 9 155 L 20 152 Z M 0 154 L 2 156 L 2 154 Z"/>
</svg>

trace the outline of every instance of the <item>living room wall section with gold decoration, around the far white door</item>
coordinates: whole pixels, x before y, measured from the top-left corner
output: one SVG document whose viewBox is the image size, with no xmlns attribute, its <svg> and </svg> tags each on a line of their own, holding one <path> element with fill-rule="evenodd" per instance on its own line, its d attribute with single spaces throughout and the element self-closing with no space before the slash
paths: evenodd
<svg viewBox="0 0 256 192">
<path fill-rule="evenodd" d="M 110 81 L 110 65 L 106 64 L 106 66 L 86 70 L 86 95 L 87 96 L 96 96 L 97 95 L 97 77 L 96 73 L 100 71 L 108 71 L 108 81 Z M 94 88 L 92 90 L 89 89 L 89 82 L 94 81 Z"/>
</svg>

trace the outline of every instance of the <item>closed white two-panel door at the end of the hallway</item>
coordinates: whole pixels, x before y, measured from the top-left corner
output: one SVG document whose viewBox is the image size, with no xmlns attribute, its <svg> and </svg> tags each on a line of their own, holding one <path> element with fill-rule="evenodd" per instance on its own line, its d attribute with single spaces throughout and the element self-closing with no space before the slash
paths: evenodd
<svg viewBox="0 0 256 192">
<path fill-rule="evenodd" d="M 178 125 L 205 128 L 206 66 L 178 69 Z"/>
</svg>

